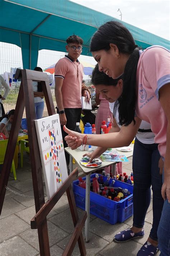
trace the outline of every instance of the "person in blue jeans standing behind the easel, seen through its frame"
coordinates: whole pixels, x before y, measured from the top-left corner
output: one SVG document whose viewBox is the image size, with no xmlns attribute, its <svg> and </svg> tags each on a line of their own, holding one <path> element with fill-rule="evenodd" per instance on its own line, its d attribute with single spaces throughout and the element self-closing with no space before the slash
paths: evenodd
<svg viewBox="0 0 170 256">
<path fill-rule="evenodd" d="M 35 67 L 35 71 L 43 72 L 41 67 Z M 44 110 L 44 93 L 42 90 L 41 82 L 33 81 L 33 91 L 34 91 L 34 105 L 36 111 L 36 118 L 40 119 L 43 115 Z"/>
</svg>

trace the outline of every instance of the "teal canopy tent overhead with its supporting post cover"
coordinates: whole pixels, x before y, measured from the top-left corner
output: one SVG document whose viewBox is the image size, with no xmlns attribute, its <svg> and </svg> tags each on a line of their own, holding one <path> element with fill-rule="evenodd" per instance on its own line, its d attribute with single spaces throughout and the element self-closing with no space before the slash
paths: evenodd
<svg viewBox="0 0 170 256">
<path fill-rule="evenodd" d="M 0 0 L 0 10 L 0 41 L 21 47 L 24 69 L 37 66 L 38 50 L 65 52 L 66 39 L 72 34 L 82 37 L 82 54 L 91 56 L 91 36 L 103 23 L 117 20 L 67 0 Z M 142 48 L 169 48 L 168 40 L 122 23 Z"/>
</svg>

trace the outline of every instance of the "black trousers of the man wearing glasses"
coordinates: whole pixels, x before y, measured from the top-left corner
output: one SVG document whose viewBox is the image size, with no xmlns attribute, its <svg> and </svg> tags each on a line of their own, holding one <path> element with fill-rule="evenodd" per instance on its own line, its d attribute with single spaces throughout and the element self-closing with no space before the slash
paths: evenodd
<svg viewBox="0 0 170 256">
<path fill-rule="evenodd" d="M 58 109 L 57 109 L 58 113 Z M 75 131 L 76 129 L 76 123 L 80 123 L 80 118 L 81 118 L 81 109 L 65 109 L 65 114 L 67 118 L 67 123 L 66 127 L 70 129 L 71 131 Z M 63 125 L 61 125 L 61 132 L 62 132 L 62 139 L 63 139 L 63 145 L 64 147 L 68 147 L 65 137 L 68 135 L 64 130 L 63 130 Z M 70 155 L 65 151 L 65 156 L 66 156 L 66 162 L 67 165 L 70 163 Z"/>
</svg>

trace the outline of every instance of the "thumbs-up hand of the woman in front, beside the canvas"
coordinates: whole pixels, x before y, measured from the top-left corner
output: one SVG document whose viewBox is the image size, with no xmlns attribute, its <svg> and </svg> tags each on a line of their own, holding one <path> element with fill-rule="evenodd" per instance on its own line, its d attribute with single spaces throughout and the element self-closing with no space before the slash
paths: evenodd
<svg viewBox="0 0 170 256">
<path fill-rule="evenodd" d="M 63 129 L 68 135 L 65 137 L 65 141 L 71 149 L 77 149 L 82 144 L 84 134 L 71 131 L 64 125 Z"/>
</svg>

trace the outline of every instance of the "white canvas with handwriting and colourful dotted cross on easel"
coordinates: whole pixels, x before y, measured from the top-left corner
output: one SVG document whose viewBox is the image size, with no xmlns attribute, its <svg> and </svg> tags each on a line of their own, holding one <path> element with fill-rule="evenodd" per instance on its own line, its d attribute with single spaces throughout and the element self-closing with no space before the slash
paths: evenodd
<svg viewBox="0 0 170 256">
<path fill-rule="evenodd" d="M 59 115 L 35 120 L 35 125 L 47 197 L 50 199 L 68 177 Z"/>
</svg>

